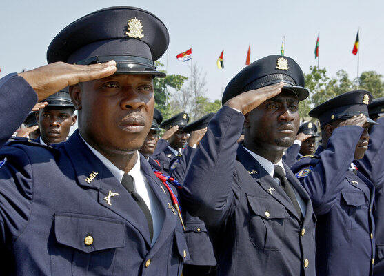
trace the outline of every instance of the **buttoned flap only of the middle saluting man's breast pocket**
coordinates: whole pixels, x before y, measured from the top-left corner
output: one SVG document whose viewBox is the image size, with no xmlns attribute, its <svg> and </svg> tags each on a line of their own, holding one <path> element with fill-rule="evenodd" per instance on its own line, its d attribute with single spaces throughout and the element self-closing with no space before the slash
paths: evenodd
<svg viewBox="0 0 384 276">
<path fill-rule="evenodd" d="M 247 195 L 248 203 L 256 215 L 265 219 L 285 219 L 285 207 L 269 197 L 253 197 Z"/>
</svg>

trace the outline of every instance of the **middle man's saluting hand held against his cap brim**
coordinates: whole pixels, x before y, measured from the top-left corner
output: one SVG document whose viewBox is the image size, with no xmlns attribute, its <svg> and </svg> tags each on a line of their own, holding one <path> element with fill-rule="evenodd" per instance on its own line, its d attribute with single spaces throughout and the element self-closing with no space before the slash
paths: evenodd
<svg viewBox="0 0 384 276">
<path fill-rule="evenodd" d="M 273 86 L 265 86 L 256 90 L 243 92 L 232 99 L 229 99 L 224 105 L 240 110 L 243 114 L 247 114 L 254 108 L 258 107 L 266 101 L 278 95 L 283 88 L 284 83 L 276 83 Z"/>
</svg>

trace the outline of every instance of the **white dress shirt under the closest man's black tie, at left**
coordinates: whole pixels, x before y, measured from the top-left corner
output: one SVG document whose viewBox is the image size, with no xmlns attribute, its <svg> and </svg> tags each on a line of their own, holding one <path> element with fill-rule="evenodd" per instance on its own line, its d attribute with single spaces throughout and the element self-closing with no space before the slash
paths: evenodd
<svg viewBox="0 0 384 276">
<path fill-rule="evenodd" d="M 84 139 L 83 141 L 88 146 L 88 148 L 90 148 L 90 150 L 94 153 L 94 155 L 96 155 L 97 158 L 100 159 L 101 163 L 103 163 L 105 167 L 107 167 L 108 170 L 110 170 L 112 175 L 114 175 L 114 177 L 116 177 L 117 180 L 121 183 L 121 180 L 123 179 L 123 175 L 125 174 L 125 172 L 117 168 L 117 166 L 114 166 L 114 164 L 112 164 L 110 160 L 108 160 L 106 157 L 101 155 L 100 152 L 92 148 L 92 146 L 90 146 Z M 150 213 L 152 215 L 153 239 L 152 239 L 151 246 L 153 246 L 154 243 L 156 242 L 156 239 L 160 235 L 161 228 L 163 227 L 163 222 L 165 219 L 165 214 L 163 213 L 163 210 L 161 210 L 161 207 L 160 207 L 161 205 L 159 200 L 157 199 L 156 195 L 154 195 L 154 192 L 150 187 L 150 185 L 148 184 L 147 179 L 144 177 L 143 172 L 141 172 L 139 152 L 137 152 L 136 164 L 134 164 L 133 168 L 130 170 L 130 172 L 128 172 L 128 175 L 133 177 L 134 190 L 141 196 L 145 204 L 147 204 L 147 207 L 150 210 Z"/>
</svg>

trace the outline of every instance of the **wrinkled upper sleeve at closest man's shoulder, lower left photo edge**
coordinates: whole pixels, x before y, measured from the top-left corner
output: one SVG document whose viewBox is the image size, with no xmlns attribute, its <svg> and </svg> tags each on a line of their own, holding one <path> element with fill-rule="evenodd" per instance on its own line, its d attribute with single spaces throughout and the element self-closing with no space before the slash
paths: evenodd
<svg viewBox="0 0 384 276">
<path fill-rule="evenodd" d="M 14 146 L 0 150 L 0 244 L 14 242 L 28 224 L 32 206 L 32 166 Z"/>
</svg>

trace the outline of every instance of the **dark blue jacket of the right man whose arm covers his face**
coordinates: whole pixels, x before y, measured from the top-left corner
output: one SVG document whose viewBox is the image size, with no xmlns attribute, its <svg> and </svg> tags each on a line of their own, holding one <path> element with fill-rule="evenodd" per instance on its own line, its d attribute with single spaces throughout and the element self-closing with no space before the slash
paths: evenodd
<svg viewBox="0 0 384 276">
<path fill-rule="evenodd" d="M 317 157 L 303 157 L 292 167 L 318 219 L 318 275 L 372 273 L 374 187 L 360 172 L 355 175 L 348 169 L 362 132 L 360 126 L 336 128 L 327 148 L 316 150 Z"/>
</svg>

